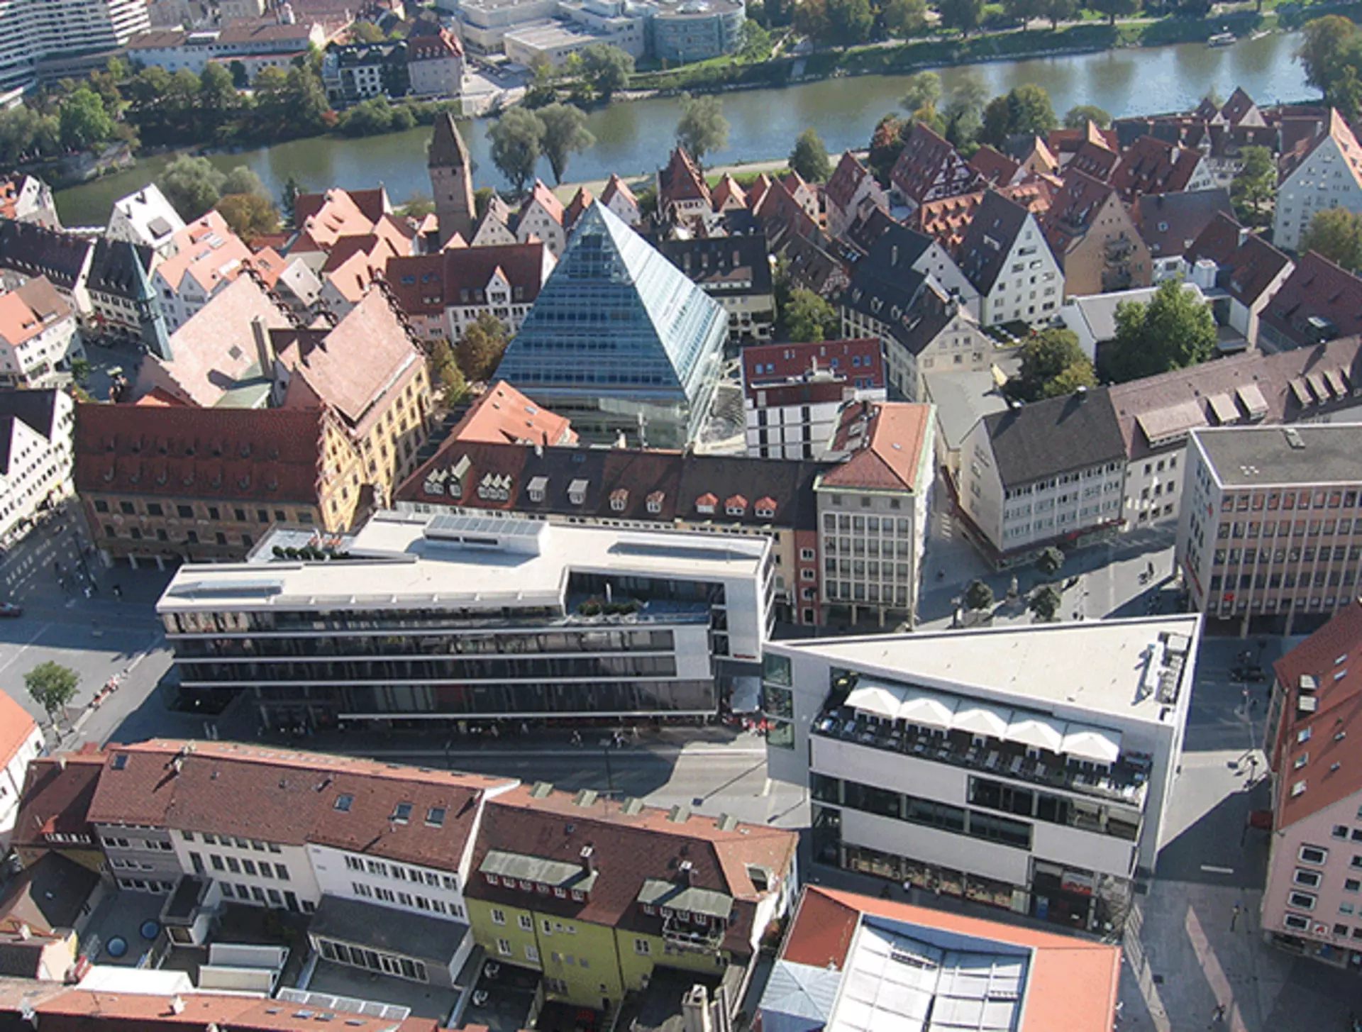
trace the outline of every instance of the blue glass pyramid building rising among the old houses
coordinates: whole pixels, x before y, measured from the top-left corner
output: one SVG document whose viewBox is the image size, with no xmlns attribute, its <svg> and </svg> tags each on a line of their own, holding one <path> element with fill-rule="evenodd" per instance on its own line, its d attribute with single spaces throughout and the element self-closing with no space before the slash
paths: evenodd
<svg viewBox="0 0 1362 1032">
<path fill-rule="evenodd" d="M 605 204 L 579 219 L 497 377 L 583 437 L 678 448 L 699 432 L 729 335 L 725 310 Z"/>
</svg>

